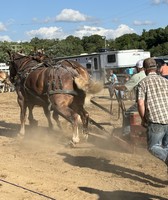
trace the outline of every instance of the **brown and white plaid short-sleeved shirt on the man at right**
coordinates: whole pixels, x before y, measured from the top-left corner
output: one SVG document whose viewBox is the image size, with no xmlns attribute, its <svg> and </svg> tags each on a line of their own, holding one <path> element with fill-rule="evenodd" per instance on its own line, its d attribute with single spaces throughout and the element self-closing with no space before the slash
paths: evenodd
<svg viewBox="0 0 168 200">
<path fill-rule="evenodd" d="M 152 123 L 168 124 L 168 80 L 154 72 L 138 85 L 138 99 L 145 100 L 145 116 Z"/>
</svg>

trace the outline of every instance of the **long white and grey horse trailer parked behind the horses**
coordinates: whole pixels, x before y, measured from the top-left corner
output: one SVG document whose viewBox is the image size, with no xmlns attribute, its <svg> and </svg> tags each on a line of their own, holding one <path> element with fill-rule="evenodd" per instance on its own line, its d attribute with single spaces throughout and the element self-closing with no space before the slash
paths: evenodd
<svg viewBox="0 0 168 200">
<path fill-rule="evenodd" d="M 61 59 L 75 60 L 86 67 L 94 79 L 105 82 L 109 69 L 113 69 L 116 74 L 123 74 L 127 68 L 135 67 L 138 60 L 148 57 L 150 57 L 149 51 L 131 49 L 58 57 L 54 61 L 57 62 Z"/>
</svg>

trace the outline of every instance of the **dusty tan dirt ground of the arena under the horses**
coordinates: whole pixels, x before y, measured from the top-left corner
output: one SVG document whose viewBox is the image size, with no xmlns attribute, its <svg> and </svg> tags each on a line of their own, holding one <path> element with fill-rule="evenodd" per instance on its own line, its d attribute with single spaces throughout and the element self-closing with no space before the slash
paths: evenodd
<svg viewBox="0 0 168 200">
<path fill-rule="evenodd" d="M 49 131 L 39 107 L 34 109 L 38 127 L 33 129 L 26 122 L 26 135 L 19 139 L 15 92 L 1 93 L 0 101 L 0 200 L 168 199 L 167 168 L 146 148 L 129 153 L 113 143 L 110 135 L 98 137 L 102 132 L 91 124 L 90 130 L 97 136 L 90 135 L 85 141 L 81 134 L 80 143 L 70 148 L 70 125 L 61 119 L 64 130 L 55 125 Z M 113 116 L 89 101 L 86 109 L 95 121 L 121 126 L 115 102 Z"/>
</svg>

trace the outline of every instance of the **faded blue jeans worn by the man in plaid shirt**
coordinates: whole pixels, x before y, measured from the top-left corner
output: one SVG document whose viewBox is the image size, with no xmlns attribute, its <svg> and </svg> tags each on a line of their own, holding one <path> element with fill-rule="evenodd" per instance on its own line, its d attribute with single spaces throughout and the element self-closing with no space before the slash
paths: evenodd
<svg viewBox="0 0 168 200">
<path fill-rule="evenodd" d="M 168 125 L 150 123 L 147 128 L 148 150 L 164 161 L 168 157 Z"/>
</svg>

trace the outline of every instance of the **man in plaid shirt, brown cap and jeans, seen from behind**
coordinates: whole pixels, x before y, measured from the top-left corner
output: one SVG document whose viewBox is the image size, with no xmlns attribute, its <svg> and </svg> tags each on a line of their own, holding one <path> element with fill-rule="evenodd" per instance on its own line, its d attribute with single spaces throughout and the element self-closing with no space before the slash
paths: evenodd
<svg viewBox="0 0 168 200">
<path fill-rule="evenodd" d="M 153 58 L 143 66 L 147 77 L 138 84 L 138 111 L 147 128 L 149 152 L 168 166 L 168 80 L 157 74 Z"/>
</svg>

